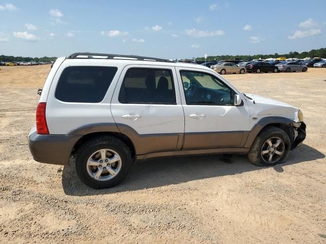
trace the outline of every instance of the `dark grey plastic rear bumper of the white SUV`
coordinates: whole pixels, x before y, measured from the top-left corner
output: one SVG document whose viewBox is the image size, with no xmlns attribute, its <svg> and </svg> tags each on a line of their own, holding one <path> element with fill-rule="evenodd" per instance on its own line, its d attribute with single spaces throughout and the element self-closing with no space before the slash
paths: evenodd
<svg viewBox="0 0 326 244">
<path fill-rule="evenodd" d="M 81 136 L 39 135 L 35 127 L 29 134 L 33 159 L 40 163 L 67 165 L 73 146 Z"/>
</svg>

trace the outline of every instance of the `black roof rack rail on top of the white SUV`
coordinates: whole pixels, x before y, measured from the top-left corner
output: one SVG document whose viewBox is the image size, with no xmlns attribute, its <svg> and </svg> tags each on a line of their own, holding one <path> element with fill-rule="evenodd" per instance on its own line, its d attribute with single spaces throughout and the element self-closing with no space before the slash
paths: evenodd
<svg viewBox="0 0 326 244">
<path fill-rule="evenodd" d="M 130 59 L 130 60 L 140 60 L 140 61 L 152 61 L 152 62 L 166 62 L 175 63 L 174 61 L 156 58 L 156 57 L 143 57 L 137 55 L 120 55 L 120 54 L 106 54 L 106 53 L 92 53 L 92 52 L 76 52 L 67 57 L 67 59 L 87 59 L 87 58 L 97 58 L 97 59 Z"/>
</svg>

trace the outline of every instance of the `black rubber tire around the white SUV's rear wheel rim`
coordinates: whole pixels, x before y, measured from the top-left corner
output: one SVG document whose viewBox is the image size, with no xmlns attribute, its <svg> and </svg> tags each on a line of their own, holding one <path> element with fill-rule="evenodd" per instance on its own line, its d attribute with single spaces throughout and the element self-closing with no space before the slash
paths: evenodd
<svg viewBox="0 0 326 244">
<path fill-rule="evenodd" d="M 90 176 L 87 171 L 87 161 L 90 156 L 100 149 L 112 149 L 121 158 L 120 171 L 109 180 L 99 181 Z M 76 173 L 79 179 L 87 186 L 94 189 L 110 188 L 118 185 L 128 174 L 132 165 L 131 153 L 123 141 L 112 136 L 99 136 L 86 141 L 76 154 Z"/>
</svg>

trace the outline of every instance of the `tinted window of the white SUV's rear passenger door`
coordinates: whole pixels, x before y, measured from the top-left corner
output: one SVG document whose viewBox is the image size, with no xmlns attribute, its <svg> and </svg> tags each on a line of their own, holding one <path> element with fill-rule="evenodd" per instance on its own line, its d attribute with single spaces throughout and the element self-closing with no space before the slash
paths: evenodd
<svg viewBox="0 0 326 244">
<path fill-rule="evenodd" d="M 171 70 L 129 69 L 120 89 L 119 102 L 176 104 Z"/>
</svg>

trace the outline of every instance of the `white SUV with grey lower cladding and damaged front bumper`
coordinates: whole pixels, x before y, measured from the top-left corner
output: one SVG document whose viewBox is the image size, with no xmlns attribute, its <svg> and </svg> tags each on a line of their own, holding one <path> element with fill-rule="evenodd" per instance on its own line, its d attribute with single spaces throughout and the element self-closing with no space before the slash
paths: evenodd
<svg viewBox="0 0 326 244">
<path fill-rule="evenodd" d="M 29 146 L 42 163 L 68 164 L 74 155 L 79 178 L 107 188 L 135 160 L 248 154 L 253 164 L 270 166 L 305 137 L 299 109 L 240 93 L 205 66 L 74 53 L 49 72 Z"/>
</svg>

